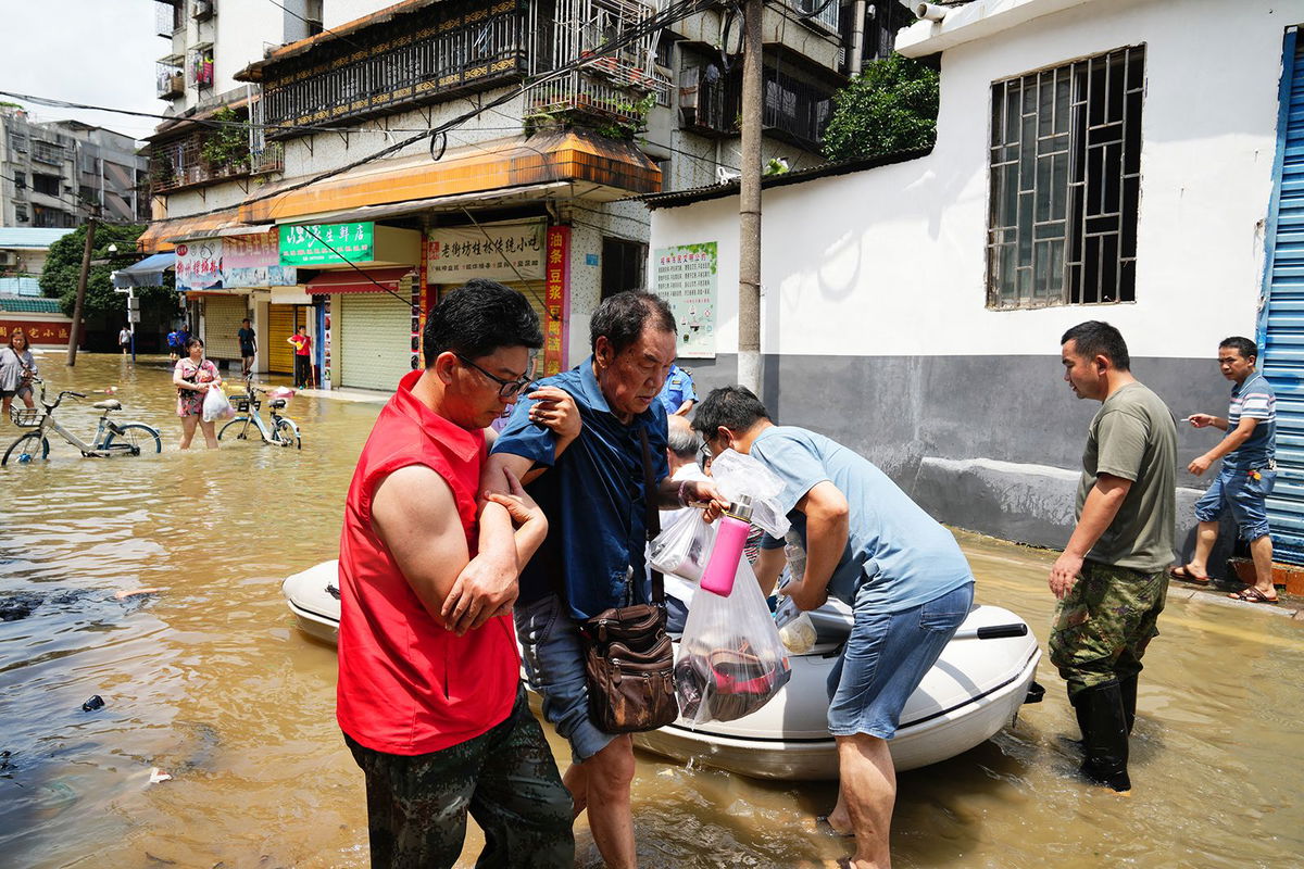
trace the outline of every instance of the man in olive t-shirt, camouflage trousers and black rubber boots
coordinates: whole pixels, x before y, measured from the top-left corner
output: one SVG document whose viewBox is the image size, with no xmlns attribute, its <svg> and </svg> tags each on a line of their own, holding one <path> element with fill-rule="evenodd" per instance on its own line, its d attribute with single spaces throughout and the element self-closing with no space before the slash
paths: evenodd
<svg viewBox="0 0 1304 869">
<path fill-rule="evenodd" d="M 1051 568 L 1060 601 L 1051 662 L 1082 728 L 1082 774 L 1127 791 L 1137 674 L 1168 591 L 1178 426 L 1132 377 L 1127 344 L 1108 323 L 1071 328 L 1060 357 L 1073 393 L 1102 404 L 1082 452 L 1077 524 Z"/>
</svg>

